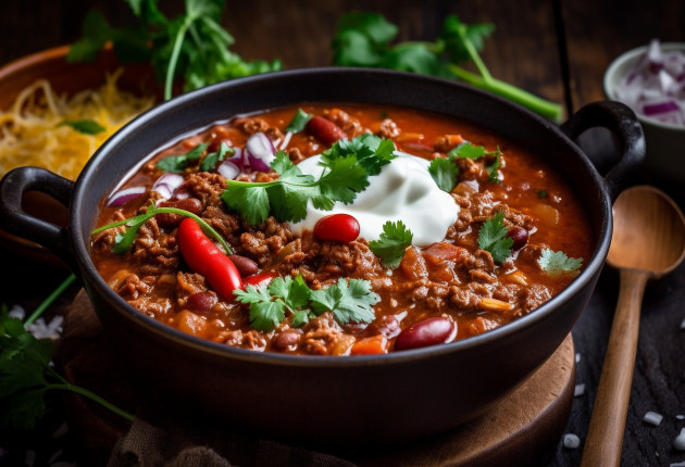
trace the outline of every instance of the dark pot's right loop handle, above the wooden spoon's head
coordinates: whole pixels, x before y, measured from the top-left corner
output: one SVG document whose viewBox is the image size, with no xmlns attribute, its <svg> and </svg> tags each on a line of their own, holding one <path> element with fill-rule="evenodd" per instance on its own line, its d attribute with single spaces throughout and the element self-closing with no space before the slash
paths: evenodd
<svg viewBox="0 0 685 467">
<path fill-rule="evenodd" d="M 621 159 L 605 176 L 607 190 L 613 202 L 643 164 L 645 136 L 635 113 L 627 105 L 615 101 L 585 105 L 561 125 L 561 130 L 575 140 L 585 130 L 595 127 L 607 128 L 616 135 L 622 146 Z M 597 165 L 597 162 L 593 163 Z"/>
</svg>

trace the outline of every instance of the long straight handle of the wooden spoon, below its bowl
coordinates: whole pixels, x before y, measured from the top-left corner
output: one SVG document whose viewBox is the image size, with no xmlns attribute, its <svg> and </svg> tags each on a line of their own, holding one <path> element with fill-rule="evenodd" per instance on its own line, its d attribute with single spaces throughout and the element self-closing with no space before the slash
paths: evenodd
<svg viewBox="0 0 685 467">
<path fill-rule="evenodd" d="M 593 416 L 587 429 L 581 467 L 619 466 L 633 368 L 639 314 L 649 274 L 621 269 L 619 302 L 611 325 Z"/>
</svg>

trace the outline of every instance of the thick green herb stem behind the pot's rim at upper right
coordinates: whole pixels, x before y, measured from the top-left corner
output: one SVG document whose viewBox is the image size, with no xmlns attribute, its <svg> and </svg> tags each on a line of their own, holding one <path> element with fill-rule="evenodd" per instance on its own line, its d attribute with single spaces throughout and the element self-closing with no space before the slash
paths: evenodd
<svg viewBox="0 0 685 467">
<path fill-rule="evenodd" d="M 521 88 L 516 88 L 515 86 L 512 86 L 505 81 L 500 81 L 499 79 L 493 77 L 490 77 L 490 79 L 485 79 L 484 77 L 468 72 L 461 66 L 454 64 L 449 64 L 448 67 L 450 72 L 457 75 L 458 78 L 469 83 L 476 88 L 490 91 L 495 94 L 501 96 L 502 98 L 516 102 L 525 106 L 526 109 L 532 110 L 536 114 L 551 119 L 555 123 L 561 122 L 563 110 L 561 105 L 555 102 L 540 99 L 537 96 L 524 91 Z"/>
</svg>

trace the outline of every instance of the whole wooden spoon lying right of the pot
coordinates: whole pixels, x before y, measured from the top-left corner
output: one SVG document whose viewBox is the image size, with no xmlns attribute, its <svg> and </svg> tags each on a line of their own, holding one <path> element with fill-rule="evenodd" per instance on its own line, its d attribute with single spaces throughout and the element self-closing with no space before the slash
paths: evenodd
<svg viewBox="0 0 685 467">
<path fill-rule="evenodd" d="M 618 466 L 621 460 L 645 285 L 673 270 L 684 257 L 685 217 L 673 200 L 648 186 L 622 192 L 613 204 L 607 257 L 620 269 L 621 288 L 582 467 Z"/>
</svg>

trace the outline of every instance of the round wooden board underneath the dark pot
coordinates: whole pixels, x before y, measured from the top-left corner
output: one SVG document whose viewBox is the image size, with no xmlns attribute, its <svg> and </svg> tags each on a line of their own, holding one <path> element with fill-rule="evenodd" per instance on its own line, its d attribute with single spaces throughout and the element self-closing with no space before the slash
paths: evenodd
<svg viewBox="0 0 685 467">
<path fill-rule="evenodd" d="M 128 377 L 112 339 L 80 291 L 67 312 L 59 350 L 64 375 L 70 382 L 135 413 L 140 388 Z M 559 443 L 574 387 L 575 354 L 569 335 L 526 382 L 477 419 L 439 436 L 349 457 L 360 465 L 541 465 Z M 67 394 L 65 404 L 70 428 L 84 446 L 89 464 L 107 464 L 130 424 L 78 396 Z"/>
</svg>

